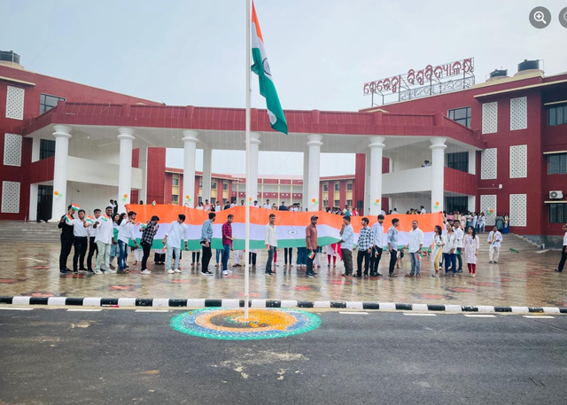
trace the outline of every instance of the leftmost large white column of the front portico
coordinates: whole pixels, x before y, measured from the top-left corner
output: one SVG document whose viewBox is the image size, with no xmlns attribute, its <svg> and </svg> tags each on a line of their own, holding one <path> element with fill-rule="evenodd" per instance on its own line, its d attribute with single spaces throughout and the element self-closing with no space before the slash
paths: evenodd
<svg viewBox="0 0 567 405">
<path fill-rule="evenodd" d="M 53 167 L 53 206 L 50 222 L 58 222 L 61 215 L 67 212 L 67 158 L 69 156 L 69 139 L 71 127 L 68 125 L 54 125 L 55 132 L 55 164 Z M 55 195 L 58 192 L 59 197 Z"/>
</svg>

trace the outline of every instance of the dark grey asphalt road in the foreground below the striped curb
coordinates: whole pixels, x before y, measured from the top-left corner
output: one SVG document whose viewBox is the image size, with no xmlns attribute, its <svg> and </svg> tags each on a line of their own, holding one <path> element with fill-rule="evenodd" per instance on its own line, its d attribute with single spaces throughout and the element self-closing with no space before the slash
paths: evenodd
<svg viewBox="0 0 567 405">
<path fill-rule="evenodd" d="M 315 331 L 226 341 L 180 312 L 0 310 L 0 404 L 564 404 L 567 316 L 317 312 Z M 486 316 L 486 315 L 485 315 Z"/>
</svg>

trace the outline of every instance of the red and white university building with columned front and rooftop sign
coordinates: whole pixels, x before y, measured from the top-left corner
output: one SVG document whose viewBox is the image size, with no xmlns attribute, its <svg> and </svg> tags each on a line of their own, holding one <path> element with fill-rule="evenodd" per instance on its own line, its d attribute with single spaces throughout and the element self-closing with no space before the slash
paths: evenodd
<svg viewBox="0 0 567 405">
<path fill-rule="evenodd" d="M 285 111 L 289 136 L 252 109 L 250 197 L 310 211 L 351 202 L 372 215 L 394 206 L 482 211 L 489 225 L 509 213 L 511 232 L 559 245 L 567 222 L 567 73 L 545 75 L 526 62 L 460 90 L 439 82 L 448 91 L 440 94 L 431 80 L 437 66 L 427 96 L 398 88 L 396 102 L 360 112 Z M 196 206 L 207 196 L 245 197 L 243 176 L 211 171 L 214 149 L 245 149 L 243 109 L 100 90 L 28 71 L 12 52 L 0 52 L 0 143 L 0 220 L 57 219 L 71 202 L 92 211 L 109 199 L 122 209 L 138 200 Z M 183 148 L 183 169 L 166 167 L 166 148 Z M 260 150 L 303 152 L 304 174 L 259 174 Z M 356 154 L 354 175 L 322 177 L 325 152 Z"/>
</svg>

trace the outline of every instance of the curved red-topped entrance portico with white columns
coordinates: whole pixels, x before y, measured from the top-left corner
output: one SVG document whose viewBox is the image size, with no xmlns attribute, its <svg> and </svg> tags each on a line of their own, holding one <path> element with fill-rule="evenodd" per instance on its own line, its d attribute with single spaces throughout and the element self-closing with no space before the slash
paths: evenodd
<svg viewBox="0 0 567 405">
<path fill-rule="evenodd" d="M 137 202 L 138 199 L 150 203 L 155 194 L 152 190 L 159 189 L 161 182 L 157 178 L 161 174 L 152 172 L 154 162 L 148 154 L 151 148 L 183 148 L 183 191 L 178 203 L 194 207 L 199 198 L 210 198 L 213 151 L 245 149 L 244 128 L 238 128 L 240 124 L 230 121 L 229 115 L 225 121 L 221 118 L 216 121 L 177 120 L 167 122 L 167 127 L 164 127 L 165 122 L 162 120 L 146 119 L 161 113 L 162 107 L 128 107 L 129 110 L 124 105 L 114 105 L 113 108 L 117 110 L 115 113 L 120 118 L 109 120 L 106 117 L 101 120 L 97 114 L 83 115 L 81 111 L 84 105 L 79 108 L 74 103 L 62 102 L 31 122 L 26 136 L 33 139 L 33 165 L 38 168 L 35 172 L 43 171 L 42 175 L 36 175 L 33 179 L 35 181 L 32 181 L 35 197 L 32 192 L 29 207 L 31 220 L 35 220 L 35 214 L 31 213 L 35 213 L 37 209 L 38 184 L 54 187 L 53 220 L 64 214 L 66 205 L 71 202 L 83 206 L 88 213 L 95 207 L 103 209 L 109 199 L 118 201 L 120 212 L 123 212 L 125 204 Z M 97 105 L 92 108 L 96 110 Z M 192 110 L 193 116 L 197 110 L 210 110 L 213 116 L 217 110 L 225 111 L 197 107 L 167 109 L 179 114 Z M 129 115 L 122 117 L 122 113 Z M 135 117 L 132 117 L 133 113 L 136 114 Z M 266 129 L 266 123 L 260 119 L 261 114 L 252 112 L 252 117 L 256 118 L 255 122 L 252 121 L 252 127 L 259 130 L 252 132 L 252 195 L 249 197 L 259 197 L 257 181 L 260 151 L 303 152 L 303 207 L 309 211 L 320 210 L 323 206 L 319 190 L 321 153 L 357 153 L 366 157 L 364 174 L 360 178 L 365 191 L 360 199 L 353 198 L 353 206 L 361 207 L 361 214 L 375 215 L 381 212 L 384 198 L 400 201 L 400 204 L 405 199 L 408 204 L 412 202 L 412 207 L 427 206 L 428 212 L 442 211 L 444 190 L 447 190 L 447 169 L 449 175 L 454 170 L 446 167 L 446 152 L 468 152 L 474 155 L 483 146 L 472 131 L 465 130 L 453 121 L 432 115 L 426 115 L 427 120 L 421 117 L 420 125 L 417 125 L 416 115 L 322 112 L 288 114 L 288 121 L 291 122 L 290 135 L 282 136 Z M 70 119 L 69 116 L 73 118 Z M 308 118 L 312 123 L 293 124 L 296 121 L 294 118 L 302 118 L 303 121 Z M 326 123 L 323 124 L 322 119 Z M 109 125 L 110 121 L 113 125 Z M 350 122 L 344 123 L 345 121 Z M 136 125 L 132 125 L 133 123 Z M 394 125 L 385 125 L 388 123 Z M 458 127 L 454 128 L 454 125 Z M 40 160 L 37 150 L 41 140 L 53 137 L 55 155 Z M 200 192 L 195 182 L 197 149 L 204 151 Z M 162 159 L 165 159 L 165 155 Z M 425 160 L 431 162 L 431 166 L 423 165 Z M 470 179 L 466 179 L 466 175 L 470 173 L 462 175 L 465 180 L 473 182 L 472 175 Z M 474 184 L 467 187 L 467 190 L 471 190 Z M 467 194 L 462 192 L 465 188 L 452 191 Z M 56 191 L 58 195 L 55 194 Z M 470 195 L 474 195 L 474 192 Z M 418 198 L 420 203 L 416 205 L 414 202 Z M 390 207 L 393 207 L 392 204 Z"/>
</svg>

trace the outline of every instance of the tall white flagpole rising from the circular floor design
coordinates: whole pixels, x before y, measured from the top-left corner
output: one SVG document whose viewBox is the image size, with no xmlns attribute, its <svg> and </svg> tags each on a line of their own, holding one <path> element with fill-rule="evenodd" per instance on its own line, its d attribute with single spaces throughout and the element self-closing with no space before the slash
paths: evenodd
<svg viewBox="0 0 567 405">
<path fill-rule="evenodd" d="M 246 193 L 245 193 L 245 319 L 248 319 L 248 300 L 250 296 L 250 58 L 252 56 L 252 43 L 250 26 L 252 19 L 251 0 L 246 2 Z M 255 198 L 256 196 L 254 196 Z"/>
</svg>

